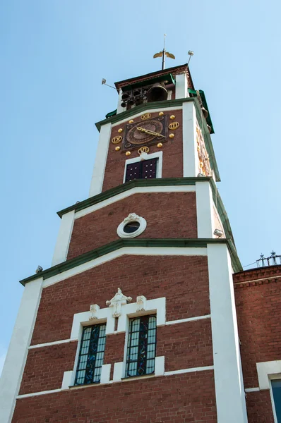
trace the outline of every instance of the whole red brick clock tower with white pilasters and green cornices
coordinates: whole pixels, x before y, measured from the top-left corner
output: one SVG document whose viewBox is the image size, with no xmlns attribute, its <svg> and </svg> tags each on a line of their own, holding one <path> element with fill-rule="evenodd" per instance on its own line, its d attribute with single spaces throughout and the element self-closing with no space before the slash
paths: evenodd
<svg viewBox="0 0 281 423">
<path fill-rule="evenodd" d="M 23 279 L 1 423 L 247 422 L 241 271 L 187 65 L 116 83 L 87 200 Z"/>
</svg>

